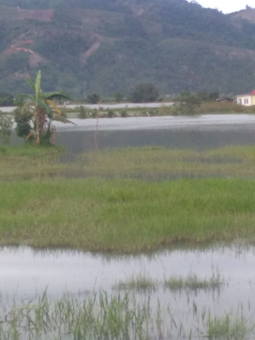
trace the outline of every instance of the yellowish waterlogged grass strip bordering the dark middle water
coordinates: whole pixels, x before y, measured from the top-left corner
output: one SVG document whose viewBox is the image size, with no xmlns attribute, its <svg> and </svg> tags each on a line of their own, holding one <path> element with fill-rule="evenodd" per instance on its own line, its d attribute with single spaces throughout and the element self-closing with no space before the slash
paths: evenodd
<svg viewBox="0 0 255 340">
<path fill-rule="evenodd" d="M 167 180 L 181 177 L 253 178 L 255 148 L 212 150 L 139 147 L 103 149 L 81 155 L 75 167 L 86 176 Z"/>
</svg>

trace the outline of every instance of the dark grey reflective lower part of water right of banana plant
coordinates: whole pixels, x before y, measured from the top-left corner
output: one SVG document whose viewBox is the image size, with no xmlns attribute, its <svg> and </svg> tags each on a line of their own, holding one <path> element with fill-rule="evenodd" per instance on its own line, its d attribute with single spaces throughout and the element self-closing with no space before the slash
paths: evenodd
<svg viewBox="0 0 255 340">
<path fill-rule="evenodd" d="M 95 149 L 93 131 L 58 131 L 57 143 L 71 153 Z M 163 146 L 167 148 L 193 148 L 197 150 L 219 148 L 227 145 L 255 144 L 251 129 L 225 129 L 215 131 L 137 130 L 99 131 L 98 147 Z"/>
</svg>

